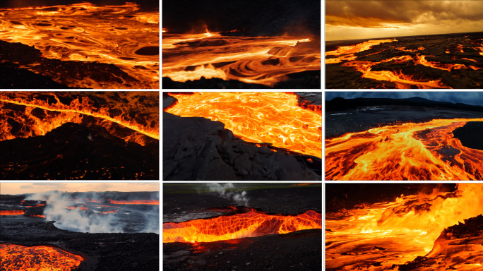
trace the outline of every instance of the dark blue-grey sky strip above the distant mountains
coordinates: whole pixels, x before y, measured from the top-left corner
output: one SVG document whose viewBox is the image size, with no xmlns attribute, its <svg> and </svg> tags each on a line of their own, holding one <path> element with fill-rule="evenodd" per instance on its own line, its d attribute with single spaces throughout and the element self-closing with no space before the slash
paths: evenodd
<svg viewBox="0 0 483 271">
<path fill-rule="evenodd" d="M 350 92 L 329 92 L 326 91 L 326 100 L 333 100 L 335 97 L 342 97 L 345 99 L 354 98 L 393 98 L 393 99 L 405 99 L 410 97 L 422 97 L 428 100 L 438 102 L 461 102 L 463 104 L 482 105 L 483 106 L 483 92 L 469 92 L 469 91 L 417 91 L 417 92 L 362 92 L 362 91 L 350 91 Z"/>
</svg>

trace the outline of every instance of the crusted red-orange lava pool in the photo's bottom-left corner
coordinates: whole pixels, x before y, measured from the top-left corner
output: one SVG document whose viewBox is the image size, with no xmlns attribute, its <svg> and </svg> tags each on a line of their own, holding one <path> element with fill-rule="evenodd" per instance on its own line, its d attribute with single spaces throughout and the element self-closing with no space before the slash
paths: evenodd
<svg viewBox="0 0 483 271">
<path fill-rule="evenodd" d="M 4 271 L 78 270 L 83 258 L 53 246 L 17 246 L 0 243 L 0 269 Z"/>
</svg>

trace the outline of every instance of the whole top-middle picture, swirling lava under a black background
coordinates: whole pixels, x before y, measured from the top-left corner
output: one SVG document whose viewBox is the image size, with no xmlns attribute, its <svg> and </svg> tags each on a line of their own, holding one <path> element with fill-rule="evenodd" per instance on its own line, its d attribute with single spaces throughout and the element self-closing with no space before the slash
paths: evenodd
<svg viewBox="0 0 483 271">
<path fill-rule="evenodd" d="M 162 1 L 162 88 L 321 88 L 321 1 Z"/>
</svg>

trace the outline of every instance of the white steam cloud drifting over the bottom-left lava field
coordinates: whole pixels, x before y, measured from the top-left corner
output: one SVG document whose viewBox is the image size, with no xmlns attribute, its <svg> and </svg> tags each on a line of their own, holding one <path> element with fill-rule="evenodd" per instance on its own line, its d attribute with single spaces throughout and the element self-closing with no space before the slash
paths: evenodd
<svg viewBox="0 0 483 271">
<path fill-rule="evenodd" d="M 83 193 L 78 198 L 89 198 L 95 201 L 105 200 L 99 198 L 96 193 Z M 25 200 L 46 200 L 47 205 L 43 215 L 47 220 L 55 220 L 56 227 L 68 231 L 79 231 L 89 233 L 123 233 L 125 232 L 126 222 L 121 215 L 108 213 L 99 215 L 97 212 L 85 212 L 79 209 L 67 209 L 73 205 L 71 196 L 68 193 L 59 191 L 49 191 L 29 195 Z M 142 214 L 133 217 L 134 219 L 144 219 L 141 221 L 143 227 L 136 227 L 136 232 L 154 232 L 159 234 L 159 215 L 155 206 L 149 206 L 150 210 L 143 210 Z M 159 211 L 157 211 L 159 214 Z M 127 215 L 133 215 L 132 213 Z"/>
</svg>

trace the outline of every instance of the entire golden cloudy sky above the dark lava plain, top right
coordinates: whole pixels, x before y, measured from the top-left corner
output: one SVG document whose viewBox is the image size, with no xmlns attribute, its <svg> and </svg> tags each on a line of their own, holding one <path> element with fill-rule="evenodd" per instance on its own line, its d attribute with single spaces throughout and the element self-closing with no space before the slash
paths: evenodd
<svg viewBox="0 0 483 271">
<path fill-rule="evenodd" d="M 326 0 L 326 40 L 483 31 L 481 0 Z"/>
</svg>

